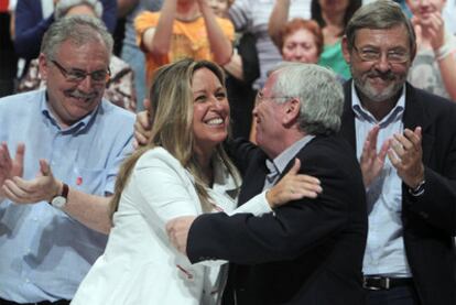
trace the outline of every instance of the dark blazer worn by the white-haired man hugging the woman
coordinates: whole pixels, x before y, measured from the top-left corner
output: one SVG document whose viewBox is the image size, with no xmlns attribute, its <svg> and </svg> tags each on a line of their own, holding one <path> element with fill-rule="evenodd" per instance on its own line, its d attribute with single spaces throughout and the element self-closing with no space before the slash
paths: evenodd
<svg viewBox="0 0 456 305">
<path fill-rule="evenodd" d="M 243 170 L 242 204 L 262 192 L 267 156 L 240 141 L 231 153 Z M 296 157 L 301 172 L 322 181 L 318 198 L 295 200 L 262 217 L 202 215 L 191 227 L 192 262 L 234 262 L 226 304 L 234 304 L 234 293 L 240 305 L 363 304 L 366 194 L 352 149 L 337 135 L 316 137 Z"/>
</svg>

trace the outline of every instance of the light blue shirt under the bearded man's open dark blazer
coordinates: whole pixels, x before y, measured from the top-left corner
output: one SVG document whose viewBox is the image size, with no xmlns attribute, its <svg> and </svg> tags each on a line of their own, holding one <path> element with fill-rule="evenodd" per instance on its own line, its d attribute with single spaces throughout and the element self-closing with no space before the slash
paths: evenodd
<svg viewBox="0 0 456 305">
<path fill-rule="evenodd" d="M 362 153 L 366 137 L 376 126 L 380 126 L 377 151 L 394 133 L 403 132 L 402 116 L 405 107 L 405 89 L 395 107 L 381 120 L 361 106 L 355 87 L 351 88 L 352 110 L 355 111 L 356 146 L 358 160 Z M 367 189 L 369 231 L 362 272 L 366 275 L 412 276 L 405 257 L 402 211 L 402 181 L 386 159 L 380 176 Z"/>
</svg>

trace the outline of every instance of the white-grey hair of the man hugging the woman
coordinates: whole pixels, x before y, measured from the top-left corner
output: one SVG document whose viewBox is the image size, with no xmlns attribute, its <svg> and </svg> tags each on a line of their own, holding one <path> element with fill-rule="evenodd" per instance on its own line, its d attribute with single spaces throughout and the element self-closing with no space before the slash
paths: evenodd
<svg viewBox="0 0 456 305">
<path fill-rule="evenodd" d="M 314 64 L 286 63 L 279 66 L 272 87 L 275 99 L 285 102 L 291 97 L 300 100 L 298 128 L 308 134 L 333 134 L 340 129 L 344 110 L 344 90 L 336 74 Z"/>
</svg>

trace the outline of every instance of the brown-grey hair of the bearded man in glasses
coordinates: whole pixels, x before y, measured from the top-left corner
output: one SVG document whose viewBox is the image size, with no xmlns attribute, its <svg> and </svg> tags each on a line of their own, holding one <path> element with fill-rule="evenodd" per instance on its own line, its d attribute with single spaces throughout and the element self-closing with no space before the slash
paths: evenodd
<svg viewBox="0 0 456 305">
<path fill-rule="evenodd" d="M 412 53 L 416 50 L 416 36 L 412 22 L 403 13 L 401 6 L 392 0 L 377 0 L 363 4 L 351 17 L 347 24 L 346 35 L 348 50 L 355 45 L 356 32 L 361 29 L 384 30 L 404 25 L 409 34 L 409 45 Z"/>
</svg>

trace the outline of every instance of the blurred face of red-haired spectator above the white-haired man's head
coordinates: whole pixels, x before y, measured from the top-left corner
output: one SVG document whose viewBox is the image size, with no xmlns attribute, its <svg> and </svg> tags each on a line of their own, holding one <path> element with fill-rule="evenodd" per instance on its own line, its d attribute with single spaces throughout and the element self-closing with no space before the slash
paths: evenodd
<svg viewBox="0 0 456 305">
<path fill-rule="evenodd" d="M 315 36 L 308 30 L 300 29 L 283 39 L 282 57 L 287 62 L 316 64 L 318 50 Z"/>
</svg>

